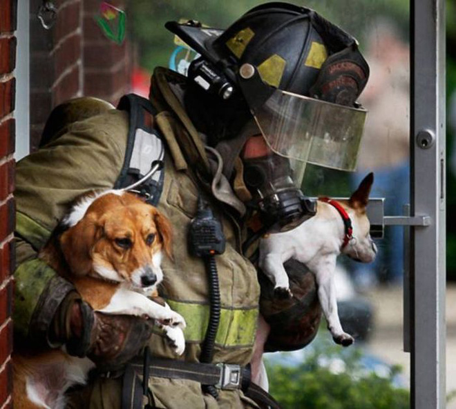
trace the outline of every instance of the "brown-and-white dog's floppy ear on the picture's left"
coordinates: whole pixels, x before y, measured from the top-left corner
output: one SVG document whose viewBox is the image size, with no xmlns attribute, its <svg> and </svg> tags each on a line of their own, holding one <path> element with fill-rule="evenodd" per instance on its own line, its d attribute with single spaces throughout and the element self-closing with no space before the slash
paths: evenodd
<svg viewBox="0 0 456 409">
<path fill-rule="evenodd" d="M 92 249 L 102 235 L 102 226 L 92 217 L 84 217 L 60 237 L 60 248 L 71 273 L 84 277 L 92 269 Z"/>
</svg>

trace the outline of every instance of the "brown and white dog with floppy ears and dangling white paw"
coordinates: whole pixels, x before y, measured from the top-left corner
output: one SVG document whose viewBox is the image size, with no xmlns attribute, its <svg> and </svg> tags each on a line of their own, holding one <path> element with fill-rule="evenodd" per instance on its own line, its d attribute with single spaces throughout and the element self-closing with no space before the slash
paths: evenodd
<svg viewBox="0 0 456 409">
<path fill-rule="evenodd" d="M 177 355 L 185 348 L 181 315 L 155 303 L 163 279 L 162 253 L 171 257 L 171 226 L 156 208 L 121 190 L 79 200 L 40 257 L 69 281 L 95 311 L 155 319 Z M 88 358 L 52 350 L 13 359 L 17 408 L 64 408 L 64 392 L 85 383 Z"/>
</svg>

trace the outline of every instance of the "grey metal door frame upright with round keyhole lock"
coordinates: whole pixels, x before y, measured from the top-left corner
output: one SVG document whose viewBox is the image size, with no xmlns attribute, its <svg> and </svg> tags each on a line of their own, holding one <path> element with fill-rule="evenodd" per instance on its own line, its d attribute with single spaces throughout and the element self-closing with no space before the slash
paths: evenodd
<svg viewBox="0 0 456 409">
<path fill-rule="evenodd" d="M 445 383 L 445 1 L 410 1 L 411 407 L 444 409 Z"/>
</svg>

